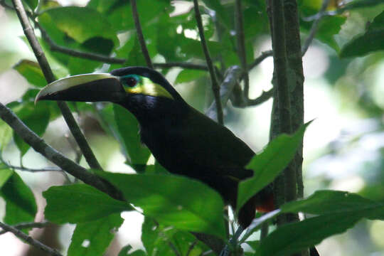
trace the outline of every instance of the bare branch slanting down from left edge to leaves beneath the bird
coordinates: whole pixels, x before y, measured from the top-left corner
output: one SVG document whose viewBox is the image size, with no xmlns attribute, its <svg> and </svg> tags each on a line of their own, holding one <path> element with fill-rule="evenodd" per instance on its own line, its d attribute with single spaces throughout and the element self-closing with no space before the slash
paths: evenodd
<svg viewBox="0 0 384 256">
<path fill-rule="evenodd" d="M 21 119 L 19 119 L 16 114 L 14 114 L 14 112 L 9 110 L 8 107 L 2 105 L 1 103 L 0 118 L 3 119 L 4 122 L 6 122 L 12 129 L 14 129 L 14 132 L 18 134 L 18 136 L 20 136 L 21 139 L 26 142 L 26 144 L 32 146 L 32 148 L 35 149 L 38 153 L 45 156 L 48 160 L 52 161 L 61 169 L 65 170 L 68 174 L 71 174 L 72 176 L 80 179 L 80 181 L 83 181 L 84 183 L 87 183 L 88 185 L 107 193 L 108 195 L 112 196 L 112 198 L 122 200 L 123 197 L 121 192 L 117 191 L 114 186 L 102 178 L 91 174 L 85 168 L 66 158 L 56 149 L 53 149 L 53 147 L 46 144 L 46 142 L 44 142 L 41 137 L 38 137 L 36 133 L 26 127 L 26 124 L 24 124 Z"/>
</svg>

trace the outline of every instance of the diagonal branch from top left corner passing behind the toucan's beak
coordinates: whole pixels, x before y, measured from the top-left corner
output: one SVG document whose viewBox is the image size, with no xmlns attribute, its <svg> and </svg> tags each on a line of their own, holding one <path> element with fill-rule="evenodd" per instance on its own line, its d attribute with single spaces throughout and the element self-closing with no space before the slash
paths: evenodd
<svg viewBox="0 0 384 256">
<path fill-rule="evenodd" d="M 12 3 L 14 4 L 16 14 L 21 23 L 21 26 L 23 27 L 26 38 L 28 39 L 33 53 L 35 54 L 41 70 L 43 71 L 44 77 L 46 78 L 47 82 L 53 82 L 55 80 L 55 76 L 50 69 L 50 65 L 46 59 L 46 55 L 44 54 L 43 49 L 40 46 L 40 43 L 38 43 L 33 28 L 31 27 L 31 23 L 28 21 L 28 16 L 23 7 L 23 4 L 21 3 L 21 0 L 12 0 Z M 92 149 L 90 149 L 87 140 L 80 131 L 78 124 L 75 122 L 75 118 L 73 118 L 73 114 L 70 112 L 68 105 L 66 105 L 65 102 L 58 102 L 58 107 L 63 114 L 65 122 L 67 122 L 68 127 L 70 128 L 70 132 L 72 132 L 73 137 L 75 138 L 76 142 L 78 142 L 78 145 L 80 146 L 80 149 L 84 154 L 87 163 L 93 169 L 102 169 L 95 155 L 93 154 Z"/>
</svg>

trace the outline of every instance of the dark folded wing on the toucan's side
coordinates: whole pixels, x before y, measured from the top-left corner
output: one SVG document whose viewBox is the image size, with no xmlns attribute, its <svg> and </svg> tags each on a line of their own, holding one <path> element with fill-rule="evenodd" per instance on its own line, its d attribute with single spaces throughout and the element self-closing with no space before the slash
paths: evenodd
<svg viewBox="0 0 384 256">
<path fill-rule="evenodd" d="M 220 174 L 246 178 L 252 172 L 245 170 L 255 153 L 229 129 L 213 122 L 201 112 L 191 109 L 183 120 L 180 134 L 184 152 L 198 166 L 217 170 Z"/>
</svg>

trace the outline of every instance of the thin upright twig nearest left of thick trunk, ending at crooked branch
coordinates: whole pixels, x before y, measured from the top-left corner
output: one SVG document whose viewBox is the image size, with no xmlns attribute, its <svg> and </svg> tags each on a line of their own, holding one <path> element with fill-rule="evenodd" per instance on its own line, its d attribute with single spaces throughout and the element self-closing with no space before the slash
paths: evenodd
<svg viewBox="0 0 384 256">
<path fill-rule="evenodd" d="M 248 98 L 250 92 L 250 76 L 247 70 L 247 53 L 245 50 L 245 35 L 244 26 L 242 24 L 242 6 L 241 0 L 235 1 L 235 27 L 236 37 L 238 39 L 238 56 L 242 68 L 242 78 L 244 79 L 244 92 L 243 97 Z"/>
</svg>

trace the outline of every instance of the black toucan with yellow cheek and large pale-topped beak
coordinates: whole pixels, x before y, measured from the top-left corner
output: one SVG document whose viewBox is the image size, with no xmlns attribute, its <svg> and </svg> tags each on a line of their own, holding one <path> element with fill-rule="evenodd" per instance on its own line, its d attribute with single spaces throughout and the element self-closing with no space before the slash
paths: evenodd
<svg viewBox="0 0 384 256">
<path fill-rule="evenodd" d="M 136 117 L 139 133 L 156 161 L 171 174 L 197 179 L 220 193 L 234 209 L 238 184 L 250 178 L 245 168 L 255 152 L 228 128 L 188 105 L 161 73 L 146 67 L 127 67 L 110 73 L 74 75 L 51 82 L 39 100 L 113 102 Z M 256 210 L 274 210 L 268 185 L 235 209 L 245 229 Z"/>
</svg>

